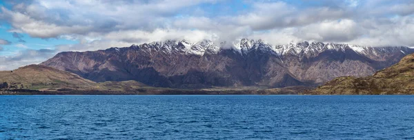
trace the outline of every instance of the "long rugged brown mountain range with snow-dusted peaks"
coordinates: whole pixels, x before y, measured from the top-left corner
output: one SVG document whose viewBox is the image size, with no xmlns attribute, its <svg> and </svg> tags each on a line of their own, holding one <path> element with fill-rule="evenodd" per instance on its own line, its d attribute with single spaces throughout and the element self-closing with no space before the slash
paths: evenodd
<svg viewBox="0 0 414 140">
<path fill-rule="evenodd" d="M 61 52 L 41 65 L 92 81 L 135 80 L 171 88 L 280 88 L 313 86 L 341 76 L 368 76 L 411 52 L 406 47 L 318 42 L 271 46 L 248 39 L 218 45 L 208 40 L 168 40 L 93 52 Z"/>
</svg>

